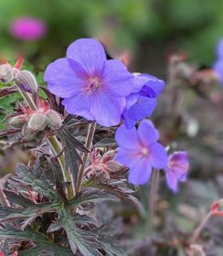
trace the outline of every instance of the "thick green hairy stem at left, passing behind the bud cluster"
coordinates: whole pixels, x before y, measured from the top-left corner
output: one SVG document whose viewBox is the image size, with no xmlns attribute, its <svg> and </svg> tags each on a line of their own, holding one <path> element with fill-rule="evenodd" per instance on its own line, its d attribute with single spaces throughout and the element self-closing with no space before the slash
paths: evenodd
<svg viewBox="0 0 223 256">
<path fill-rule="evenodd" d="M 32 110 L 37 110 L 37 106 L 35 104 L 35 102 L 33 101 L 32 97 L 30 96 L 29 93 L 27 93 L 26 91 L 21 91 L 20 93 L 22 94 L 23 98 L 25 101 L 27 101 L 28 106 L 30 107 L 30 109 Z M 58 138 L 57 136 L 51 136 L 48 138 L 48 143 L 50 144 L 51 150 L 55 155 L 58 155 L 61 152 L 61 145 L 58 142 Z M 65 157 L 64 155 L 60 155 L 58 156 L 58 163 L 60 165 L 62 174 L 63 174 L 63 179 L 64 182 L 69 182 L 70 185 L 67 188 L 67 197 L 68 199 L 71 199 L 72 197 L 74 197 L 74 187 L 73 187 L 73 180 L 72 177 L 70 175 L 69 170 L 65 170 Z"/>
</svg>

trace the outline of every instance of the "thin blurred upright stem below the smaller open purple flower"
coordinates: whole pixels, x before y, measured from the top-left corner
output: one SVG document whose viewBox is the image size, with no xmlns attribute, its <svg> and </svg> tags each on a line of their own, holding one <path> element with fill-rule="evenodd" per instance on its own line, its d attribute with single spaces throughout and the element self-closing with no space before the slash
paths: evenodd
<svg viewBox="0 0 223 256">
<path fill-rule="evenodd" d="M 151 181 L 151 188 L 149 193 L 149 221 L 148 221 L 148 234 L 153 235 L 154 232 L 154 214 L 155 214 L 155 203 L 156 203 L 156 196 L 159 187 L 159 170 L 154 169 L 152 174 L 152 181 Z"/>
</svg>

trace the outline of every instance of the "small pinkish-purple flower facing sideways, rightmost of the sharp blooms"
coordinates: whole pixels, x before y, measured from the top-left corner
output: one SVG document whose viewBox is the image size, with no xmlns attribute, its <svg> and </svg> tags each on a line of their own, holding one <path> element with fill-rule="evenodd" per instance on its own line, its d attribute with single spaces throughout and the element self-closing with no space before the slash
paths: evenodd
<svg viewBox="0 0 223 256">
<path fill-rule="evenodd" d="M 165 177 L 168 187 L 174 192 L 178 190 L 178 182 L 186 181 L 188 168 L 189 160 L 186 151 L 169 155 L 168 164 L 165 167 Z"/>
</svg>

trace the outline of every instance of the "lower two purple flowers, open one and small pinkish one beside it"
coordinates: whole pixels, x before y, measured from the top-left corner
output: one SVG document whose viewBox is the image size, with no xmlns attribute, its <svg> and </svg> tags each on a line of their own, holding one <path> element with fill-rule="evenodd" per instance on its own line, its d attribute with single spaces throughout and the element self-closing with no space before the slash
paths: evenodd
<svg viewBox="0 0 223 256">
<path fill-rule="evenodd" d="M 116 160 L 129 166 L 129 182 L 134 185 L 145 184 L 153 168 L 165 169 L 167 186 L 176 192 L 178 182 L 186 181 L 188 155 L 183 151 L 167 157 L 165 147 L 157 142 L 158 138 L 159 133 L 149 120 L 143 120 L 138 130 L 135 127 L 127 129 L 122 125 L 115 134 L 119 144 Z"/>
</svg>

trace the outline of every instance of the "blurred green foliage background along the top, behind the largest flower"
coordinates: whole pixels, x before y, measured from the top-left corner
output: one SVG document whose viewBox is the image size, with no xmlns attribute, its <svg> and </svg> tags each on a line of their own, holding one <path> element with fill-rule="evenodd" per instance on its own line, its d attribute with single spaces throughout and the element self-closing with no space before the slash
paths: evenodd
<svg viewBox="0 0 223 256">
<path fill-rule="evenodd" d="M 211 65 L 223 35 L 223 1 L 204 0 L 0 0 L 0 57 L 44 68 L 65 55 L 71 42 L 97 37 L 116 57 L 127 52 L 132 69 L 165 77 L 165 59 L 186 51 L 200 65 Z M 48 34 L 21 42 L 8 33 L 18 16 L 42 18 Z"/>
</svg>

